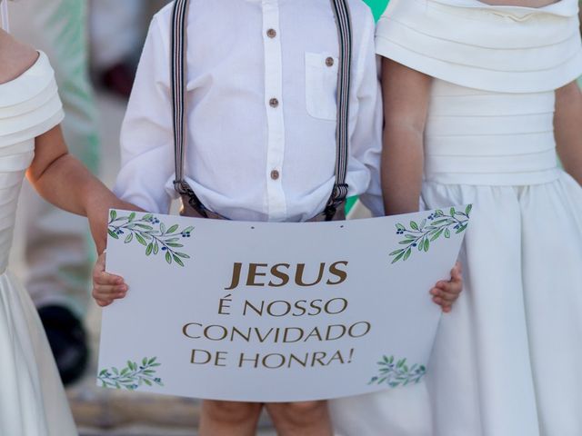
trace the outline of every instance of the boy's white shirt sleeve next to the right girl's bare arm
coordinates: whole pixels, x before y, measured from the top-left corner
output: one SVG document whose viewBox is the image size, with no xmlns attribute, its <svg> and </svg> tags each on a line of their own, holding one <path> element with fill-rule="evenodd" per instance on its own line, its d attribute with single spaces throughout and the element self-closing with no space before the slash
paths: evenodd
<svg viewBox="0 0 582 436">
<path fill-rule="evenodd" d="M 366 27 L 359 47 L 356 80 L 357 118 L 352 133 L 352 153 L 370 172 L 370 183 L 360 200 L 374 216 L 384 216 L 380 184 L 382 152 L 382 95 L 379 80 L 379 58 L 374 47 L 374 18 L 368 11 Z"/>
</svg>

